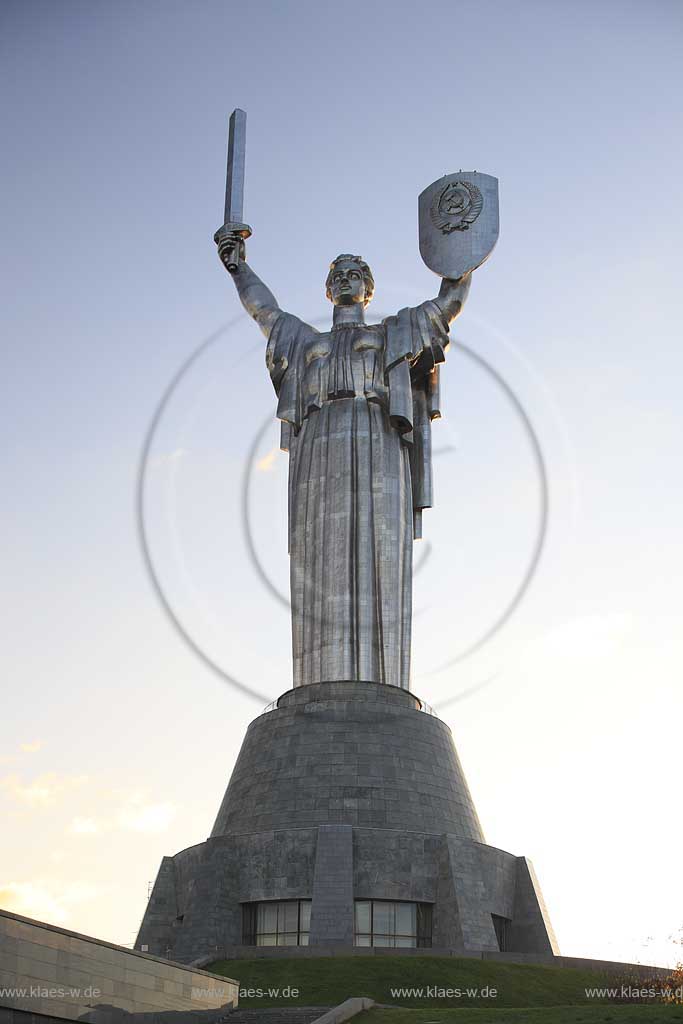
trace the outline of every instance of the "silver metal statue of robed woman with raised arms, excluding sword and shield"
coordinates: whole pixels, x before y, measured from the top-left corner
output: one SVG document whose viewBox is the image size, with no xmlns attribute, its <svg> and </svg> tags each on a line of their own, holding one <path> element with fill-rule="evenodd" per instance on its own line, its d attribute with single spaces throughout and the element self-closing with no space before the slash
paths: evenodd
<svg viewBox="0 0 683 1024">
<path fill-rule="evenodd" d="M 244 242 L 218 242 L 227 266 Z M 405 689 L 411 674 L 413 540 L 432 504 L 431 421 L 439 365 L 470 274 L 438 296 L 366 324 L 370 267 L 338 256 L 326 288 L 330 331 L 284 312 L 248 263 L 231 276 L 267 338 L 281 446 L 290 454 L 294 685 L 357 680 Z"/>
</svg>

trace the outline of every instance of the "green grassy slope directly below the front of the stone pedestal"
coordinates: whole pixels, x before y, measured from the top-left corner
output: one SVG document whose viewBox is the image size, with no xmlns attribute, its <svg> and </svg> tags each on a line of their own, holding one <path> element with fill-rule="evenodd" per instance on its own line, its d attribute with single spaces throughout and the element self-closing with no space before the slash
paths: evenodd
<svg viewBox="0 0 683 1024">
<path fill-rule="evenodd" d="M 301 959 L 219 961 L 207 970 L 237 978 L 241 989 L 299 989 L 298 998 L 240 996 L 243 1007 L 273 1006 L 337 1006 L 350 995 L 368 995 L 376 1002 L 401 1007 L 560 1007 L 586 1004 L 586 988 L 609 984 L 596 971 L 570 968 L 502 964 L 492 961 L 459 959 L 435 956 L 334 956 Z M 612 982 L 613 984 L 613 982 Z M 392 995 L 396 987 L 478 988 L 488 985 L 497 989 L 493 999 L 466 996 L 461 998 L 410 998 Z M 593 1002 L 594 1000 L 589 1000 Z M 600 1008 L 598 1008 L 600 1009 Z M 606 1007 L 604 1009 L 607 1009 Z M 635 1008 L 638 1010 L 638 1008 Z M 651 1009 L 651 1008 L 648 1008 Z M 641 1011 L 642 1012 L 642 1011 Z M 482 1014 L 483 1010 L 479 1011 Z M 422 1015 L 424 1017 L 424 1014 Z M 374 1018 L 368 1018 L 373 1020 Z M 427 1018 L 425 1018 L 426 1020 Z M 446 1018 L 447 1019 L 447 1018 Z M 455 1019 L 455 1018 L 454 1018 Z M 458 1020 L 462 1020 L 462 1016 Z M 482 1022 L 488 1018 L 479 1016 Z M 494 1019 L 494 1018 L 492 1018 Z M 496 1020 L 501 1019 L 496 1017 Z M 517 1020 L 524 1020 L 518 1017 Z M 543 1017 L 529 1017 L 543 1020 Z M 567 1018 L 571 1020 L 572 1018 Z M 580 1020 L 581 1018 L 577 1018 Z M 586 1018 L 586 1020 L 605 1018 Z M 622 1019 L 622 1018 L 618 1018 Z M 630 1018 L 623 1018 L 630 1020 Z M 633 1018 L 637 1020 L 638 1018 Z M 645 1019 L 645 1018 L 643 1018 Z M 650 1019 L 650 1018 L 648 1018 Z M 669 1019 L 669 1018 L 668 1018 Z M 391 1018 L 377 1018 L 378 1022 Z M 418 1022 L 418 1017 L 396 1017 L 396 1020 Z M 617 1018 L 614 1018 L 617 1020 Z M 391 1024 L 393 1022 L 391 1021 Z M 422 1024 L 422 1022 L 420 1022 Z"/>
</svg>

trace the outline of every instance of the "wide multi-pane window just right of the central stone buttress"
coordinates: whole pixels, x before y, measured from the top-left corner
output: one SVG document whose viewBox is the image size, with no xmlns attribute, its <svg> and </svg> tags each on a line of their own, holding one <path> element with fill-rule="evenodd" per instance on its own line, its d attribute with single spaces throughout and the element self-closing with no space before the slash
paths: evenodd
<svg viewBox="0 0 683 1024">
<path fill-rule="evenodd" d="M 431 903 L 355 901 L 353 942 L 356 946 L 426 948 L 431 946 Z"/>
</svg>

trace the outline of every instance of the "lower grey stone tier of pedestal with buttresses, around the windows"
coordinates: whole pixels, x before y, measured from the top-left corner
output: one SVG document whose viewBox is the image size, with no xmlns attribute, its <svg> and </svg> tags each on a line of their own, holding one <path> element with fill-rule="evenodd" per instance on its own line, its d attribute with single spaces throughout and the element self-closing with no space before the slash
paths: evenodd
<svg viewBox="0 0 683 1024">
<path fill-rule="evenodd" d="M 167 948 L 155 942 L 170 935 L 174 959 L 190 963 L 212 951 L 217 958 L 220 949 L 242 942 L 244 903 L 279 899 L 312 901 L 311 947 L 352 947 L 353 900 L 391 899 L 432 904 L 435 946 L 498 951 L 496 914 L 511 922 L 515 951 L 558 951 L 526 858 L 461 837 L 322 825 L 220 836 L 201 847 L 195 873 L 185 876 L 168 910 L 166 930 L 161 914 L 167 904 L 154 905 L 155 886 L 136 947 L 144 943 L 165 954 Z M 162 871 L 167 878 L 166 858 Z M 181 920 L 174 916 L 179 907 Z"/>
</svg>

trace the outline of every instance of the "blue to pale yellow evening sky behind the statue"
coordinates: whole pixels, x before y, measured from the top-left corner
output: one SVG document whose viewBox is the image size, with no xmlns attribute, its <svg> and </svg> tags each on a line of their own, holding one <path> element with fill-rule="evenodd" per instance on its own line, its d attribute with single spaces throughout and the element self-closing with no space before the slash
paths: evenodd
<svg viewBox="0 0 683 1024">
<path fill-rule="evenodd" d="M 6 0 L 0 906 L 132 943 L 260 711 L 182 642 L 136 534 L 155 412 L 224 325 L 159 423 L 145 525 L 194 642 L 268 699 L 290 685 L 287 610 L 240 504 L 273 394 L 212 243 L 240 105 L 248 256 L 310 319 L 338 252 L 373 267 L 370 319 L 435 295 L 418 194 L 460 167 L 499 177 L 501 239 L 455 337 L 532 424 L 547 545 L 495 641 L 435 671 L 510 600 L 540 509 L 514 408 L 454 346 L 413 685 L 438 705 L 493 678 L 441 714 L 562 952 L 680 958 L 682 25 L 664 0 Z M 250 522 L 286 591 L 275 449 L 273 419 Z"/>
</svg>

